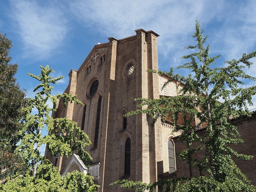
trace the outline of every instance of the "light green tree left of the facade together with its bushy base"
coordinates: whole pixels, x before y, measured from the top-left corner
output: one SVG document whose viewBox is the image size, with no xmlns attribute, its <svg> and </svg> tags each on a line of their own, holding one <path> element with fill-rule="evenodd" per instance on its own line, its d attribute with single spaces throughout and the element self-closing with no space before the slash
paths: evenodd
<svg viewBox="0 0 256 192">
<path fill-rule="evenodd" d="M 56 81 L 63 77 L 49 76 L 54 71 L 48 65 L 40 68 L 41 74 L 38 76 L 28 73 L 29 76 L 40 81 L 40 84 L 34 89 L 35 98 L 27 98 L 27 105 L 22 109 L 26 116 L 22 121 L 22 129 L 18 132 L 21 140 L 16 148 L 16 154 L 24 158 L 28 171 L 25 175 L 20 176 L 17 172 L 15 178 L 7 178 L 7 181 L 0 185 L 0 190 L 96 191 L 97 185 L 94 185 L 92 176 L 74 172 L 62 178 L 56 167 L 40 155 L 39 147 L 45 144 L 51 155 L 69 156 L 76 151 L 86 162 L 92 160 L 90 154 L 84 150 L 91 141 L 88 135 L 77 127 L 77 123 L 68 118 L 54 119 L 50 116 L 50 112 L 56 111 L 58 99 L 62 100 L 63 105 L 67 102 L 82 103 L 71 94 L 52 96 L 51 84 L 56 84 Z M 50 107 L 48 102 L 52 102 L 53 106 Z M 43 128 L 47 129 L 48 135 L 41 134 Z"/>
</svg>

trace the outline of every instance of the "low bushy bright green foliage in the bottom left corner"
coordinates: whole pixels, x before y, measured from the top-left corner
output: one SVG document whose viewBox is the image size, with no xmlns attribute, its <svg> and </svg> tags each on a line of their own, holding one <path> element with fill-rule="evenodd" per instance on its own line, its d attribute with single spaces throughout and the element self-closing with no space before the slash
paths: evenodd
<svg viewBox="0 0 256 192">
<path fill-rule="evenodd" d="M 93 177 L 81 172 L 68 173 L 62 177 L 56 167 L 45 160 L 38 166 L 36 176 L 27 172 L 24 176 L 17 175 L 8 178 L 0 185 L 1 191 L 9 192 L 95 192 L 98 185 L 93 183 Z"/>
</svg>

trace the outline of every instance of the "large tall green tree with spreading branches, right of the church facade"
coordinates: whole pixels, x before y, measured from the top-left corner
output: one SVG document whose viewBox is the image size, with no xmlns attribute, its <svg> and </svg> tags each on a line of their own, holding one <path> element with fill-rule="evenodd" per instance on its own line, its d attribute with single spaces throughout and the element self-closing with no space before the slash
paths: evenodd
<svg viewBox="0 0 256 192">
<path fill-rule="evenodd" d="M 180 139 L 188 141 L 189 147 L 179 154 L 184 161 L 199 168 L 199 177 L 177 178 L 159 181 L 154 184 L 138 184 L 136 182 L 117 181 L 130 188 L 146 186 L 152 190 L 156 186 L 163 189 L 167 185 L 169 190 L 178 191 L 256 191 L 255 186 L 250 185 L 247 176 L 237 167 L 233 158 L 250 160 L 253 156 L 239 154 L 232 146 L 243 143 L 236 126 L 232 125 L 231 118 L 251 116 L 247 103 L 252 105 L 252 96 L 256 94 L 256 86 L 242 88 L 243 80 L 255 81 L 256 78 L 249 76 L 243 70 L 250 68 L 252 62 L 249 59 L 256 56 L 256 51 L 243 54 L 238 60 L 226 61 L 224 67 L 215 67 L 215 61 L 220 56 L 209 56 L 209 45 L 204 47 L 207 36 L 203 37 L 200 23 L 196 20 L 195 33 L 196 45 L 190 45 L 185 49 L 192 49 L 192 54 L 183 56 L 189 59 L 188 63 L 178 67 L 190 69 L 189 76 L 180 76 L 170 72 L 151 71 L 160 75 L 168 75 L 167 83 L 178 80 L 185 83 L 176 97 L 162 97 L 160 99 L 143 99 L 138 107 L 147 106 L 144 110 L 129 112 L 127 115 L 139 113 L 149 114 L 154 121 L 158 118 L 166 119 L 171 116 L 175 131 L 182 130 Z M 164 85 L 166 86 L 166 85 Z M 222 100 L 222 103 L 217 100 Z M 182 114 L 183 125 L 177 124 Z M 192 121 L 198 118 L 200 123 L 192 126 Z M 206 125 L 204 127 L 204 125 Z M 204 127 L 206 134 L 200 136 L 197 129 Z M 197 146 L 197 147 L 195 147 Z M 196 154 L 204 154 L 199 159 Z M 233 158 L 232 158 L 233 157 Z M 180 181 L 183 181 L 180 183 Z M 143 191 L 137 188 L 137 191 Z"/>
</svg>

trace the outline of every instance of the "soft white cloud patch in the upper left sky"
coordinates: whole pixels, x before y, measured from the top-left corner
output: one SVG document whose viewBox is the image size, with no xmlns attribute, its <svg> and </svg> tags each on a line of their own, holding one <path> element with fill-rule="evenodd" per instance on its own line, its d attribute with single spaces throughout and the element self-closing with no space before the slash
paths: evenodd
<svg viewBox="0 0 256 192">
<path fill-rule="evenodd" d="M 67 33 L 66 19 L 54 4 L 39 5 L 37 1 L 11 0 L 13 26 L 22 37 L 23 57 L 42 59 L 61 45 Z"/>
</svg>

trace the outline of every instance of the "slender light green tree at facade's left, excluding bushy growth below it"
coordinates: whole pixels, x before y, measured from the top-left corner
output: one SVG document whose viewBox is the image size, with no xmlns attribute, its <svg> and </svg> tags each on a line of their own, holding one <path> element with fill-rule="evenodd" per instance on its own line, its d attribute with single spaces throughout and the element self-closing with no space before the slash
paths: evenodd
<svg viewBox="0 0 256 192">
<path fill-rule="evenodd" d="M 64 105 L 66 105 L 67 101 L 76 104 L 82 103 L 76 99 L 76 96 L 72 96 L 71 94 L 64 93 L 52 96 L 53 86 L 50 86 L 50 83 L 56 84 L 56 81 L 63 77 L 54 78 L 49 76 L 54 71 L 48 65 L 46 67 L 40 67 L 40 75 L 35 76 L 28 73 L 29 76 L 39 80 L 40 84 L 34 89 L 34 92 L 37 91 L 35 98 L 27 98 L 27 106 L 23 109 L 27 115 L 24 118 L 24 126 L 19 132 L 22 140 L 16 149 L 16 152 L 20 152 L 25 158 L 26 163 L 30 167 L 34 167 L 34 175 L 36 174 L 37 163 L 43 158 L 39 152 L 39 147 L 43 144 L 47 145 L 51 155 L 60 154 L 61 156 L 69 156 L 77 150 L 77 153 L 86 162 L 92 160 L 88 152 L 83 149 L 84 146 L 90 145 L 91 141 L 88 135 L 77 127 L 77 123 L 68 118 L 54 119 L 50 116 L 50 112 L 56 111 L 58 99 L 61 99 Z M 53 107 L 49 107 L 49 101 L 53 103 Z M 35 111 L 35 109 L 36 112 L 33 114 L 32 110 Z M 44 127 L 47 127 L 47 131 L 49 132 L 46 136 L 41 134 L 41 130 Z M 78 137 L 80 140 L 78 140 Z M 34 149 L 35 145 L 37 145 L 36 150 Z"/>
</svg>

